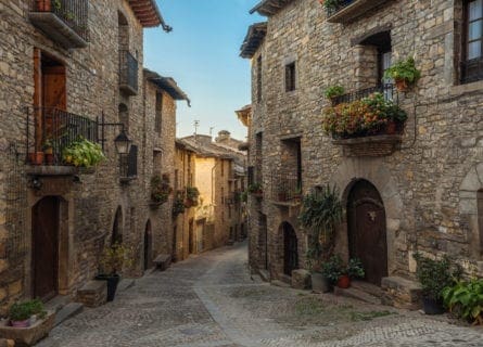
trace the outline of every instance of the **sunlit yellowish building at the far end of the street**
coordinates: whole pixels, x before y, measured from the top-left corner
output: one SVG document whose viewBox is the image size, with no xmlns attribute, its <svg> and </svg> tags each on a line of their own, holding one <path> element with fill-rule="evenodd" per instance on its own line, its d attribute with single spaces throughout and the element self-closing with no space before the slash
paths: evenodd
<svg viewBox="0 0 483 347">
<path fill-rule="evenodd" d="M 227 138 L 229 132 L 223 136 L 221 142 L 238 143 Z M 193 153 L 192 184 L 200 191 L 189 236 L 192 249 L 201 253 L 242 240 L 246 230 L 241 202 L 244 154 L 231 145 L 213 142 L 211 136 L 195 134 L 178 142 Z"/>
</svg>

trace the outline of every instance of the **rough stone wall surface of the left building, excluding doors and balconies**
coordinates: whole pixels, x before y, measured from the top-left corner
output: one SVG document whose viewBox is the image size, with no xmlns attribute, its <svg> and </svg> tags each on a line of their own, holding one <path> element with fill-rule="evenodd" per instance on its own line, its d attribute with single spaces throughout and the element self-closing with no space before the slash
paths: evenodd
<svg viewBox="0 0 483 347">
<path fill-rule="evenodd" d="M 52 294 L 74 297 L 76 291 L 98 273 L 100 252 L 114 236 L 135 246 L 135 265 L 127 273 L 141 274 L 143 235 L 150 220 L 153 252 L 170 253 L 171 249 L 169 203 L 162 208 L 162 214 L 151 211 L 149 187 L 155 147 L 165 151 L 163 171 L 174 174 L 176 107 L 174 98 L 162 91 L 166 105 L 162 125 L 165 132 L 162 140 L 156 139 L 152 111 L 156 87 L 144 80 L 142 69 L 143 27 L 164 26 L 158 23 L 161 15 L 155 13 L 155 8 L 147 10 L 153 14 L 151 20 L 157 21 L 153 24 L 128 1 L 86 1 L 88 25 L 78 29 L 88 31 L 87 46 L 67 50 L 50 34 L 33 25 L 31 2 L 0 1 L 0 35 L 4 38 L 0 42 L 0 112 L 4 119 L 0 127 L 0 158 L 7 164 L 0 167 L 0 314 L 13 300 L 35 295 L 33 233 L 37 226 L 34 215 L 39 203 L 52 196 L 50 202 L 56 206 L 59 218 L 53 221 L 53 226 L 58 223 L 58 246 L 54 246 L 58 259 Z M 67 2 L 61 1 L 61 5 L 64 3 Z M 79 3 L 84 1 L 76 2 Z M 72 14 L 77 20 L 75 15 Z M 138 86 L 135 94 L 119 89 L 122 50 L 128 50 L 138 63 L 137 80 L 130 80 Z M 39 59 L 42 68 L 54 65 L 65 72 L 65 88 L 60 98 L 64 98 L 67 112 L 91 120 L 103 114 L 105 123 L 125 125 L 138 149 L 137 175 L 123 174 L 125 164 L 119 165 L 114 146 L 118 126 L 104 128 L 106 160 L 91 175 L 73 174 L 64 166 L 41 171 L 41 167 L 25 165 L 35 142 L 33 106 L 45 105 L 36 99 Z"/>
</svg>

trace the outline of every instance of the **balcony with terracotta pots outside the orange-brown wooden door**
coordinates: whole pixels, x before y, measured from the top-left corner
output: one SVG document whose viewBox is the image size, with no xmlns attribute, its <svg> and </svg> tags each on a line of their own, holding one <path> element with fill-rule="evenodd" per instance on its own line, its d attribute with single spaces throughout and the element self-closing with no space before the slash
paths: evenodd
<svg viewBox="0 0 483 347">
<path fill-rule="evenodd" d="M 78 169 L 63 162 L 63 152 L 79 139 L 98 143 L 98 123 L 65 111 L 35 107 L 27 114 L 27 174 L 39 176 L 74 175 Z"/>
</svg>

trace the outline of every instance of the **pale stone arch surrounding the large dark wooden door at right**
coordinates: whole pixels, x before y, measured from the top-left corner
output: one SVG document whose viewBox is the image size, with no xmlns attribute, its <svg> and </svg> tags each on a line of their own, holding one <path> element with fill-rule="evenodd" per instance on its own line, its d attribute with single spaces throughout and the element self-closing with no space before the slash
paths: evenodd
<svg viewBox="0 0 483 347">
<path fill-rule="evenodd" d="M 402 211 L 404 208 L 401 194 L 397 192 L 396 180 L 391 171 L 376 158 L 351 158 L 344 160 L 332 175 L 329 184 L 335 185 L 341 192 L 344 208 L 354 184 L 360 179 L 369 181 L 379 192 L 385 208 L 386 243 L 387 243 L 387 271 L 389 275 L 396 270 L 396 242 L 406 243 L 405 235 L 399 233 Z M 347 252 L 347 222 L 341 226 L 336 236 L 336 252 L 348 255 Z M 407 259 L 409 268 L 409 259 Z"/>
</svg>

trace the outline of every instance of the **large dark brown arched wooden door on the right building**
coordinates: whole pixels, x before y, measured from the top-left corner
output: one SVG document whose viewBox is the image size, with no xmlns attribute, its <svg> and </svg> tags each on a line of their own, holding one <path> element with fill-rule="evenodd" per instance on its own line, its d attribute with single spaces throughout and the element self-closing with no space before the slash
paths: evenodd
<svg viewBox="0 0 483 347">
<path fill-rule="evenodd" d="M 385 209 L 378 190 L 366 180 L 348 193 L 347 233 L 349 256 L 361 260 L 369 283 L 381 285 L 387 277 Z"/>
</svg>

